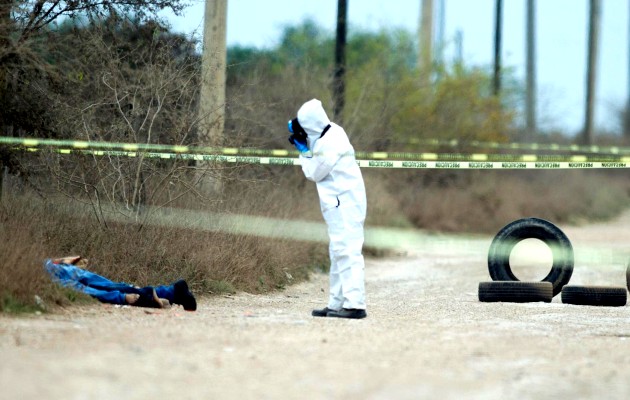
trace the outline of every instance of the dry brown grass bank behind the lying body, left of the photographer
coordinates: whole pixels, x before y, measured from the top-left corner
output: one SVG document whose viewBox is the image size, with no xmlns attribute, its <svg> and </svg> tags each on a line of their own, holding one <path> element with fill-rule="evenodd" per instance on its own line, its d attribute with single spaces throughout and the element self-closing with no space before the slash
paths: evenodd
<svg viewBox="0 0 630 400">
<path fill-rule="evenodd" d="M 137 224 L 103 226 L 77 205 L 66 200 L 60 209 L 30 194 L 5 193 L 0 208 L 4 256 L 0 262 L 0 311 L 37 307 L 36 295 L 48 305 L 65 305 L 80 298 L 51 282 L 42 263 L 52 257 L 80 254 L 89 258 L 89 270 L 139 286 L 187 279 L 199 295 L 282 288 L 306 279 L 314 267 L 321 269 L 327 257 L 321 243 L 150 223 L 141 229 Z"/>
</svg>

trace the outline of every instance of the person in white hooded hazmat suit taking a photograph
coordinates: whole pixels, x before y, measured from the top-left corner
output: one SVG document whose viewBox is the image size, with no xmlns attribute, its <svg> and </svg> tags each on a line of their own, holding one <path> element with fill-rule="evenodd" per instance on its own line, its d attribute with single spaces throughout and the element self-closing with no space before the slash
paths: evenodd
<svg viewBox="0 0 630 400">
<path fill-rule="evenodd" d="M 315 317 L 360 319 L 367 316 L 363 223 L 365 185 L 354 148 L 344 129 L 330 122 L 322 103 L 312 99 L 289 121 L 289 137 L 300 152 L 302 171 L 317 185 L 330 240 L 328 305 L 313 310 Z"/>
</svg>

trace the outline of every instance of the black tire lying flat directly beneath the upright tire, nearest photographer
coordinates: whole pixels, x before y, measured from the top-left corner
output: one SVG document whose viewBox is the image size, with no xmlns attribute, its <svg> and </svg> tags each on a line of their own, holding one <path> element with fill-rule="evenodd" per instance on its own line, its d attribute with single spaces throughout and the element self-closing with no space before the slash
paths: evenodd
<svg viewBox="0 0 630 400">
<path fill-rule="evenodd" d="M 544 301 L 551 303 L 553 285 L 549 282 L 492 281 L 479 282 L 479 301 L 532 303 Z"/>
</svg>

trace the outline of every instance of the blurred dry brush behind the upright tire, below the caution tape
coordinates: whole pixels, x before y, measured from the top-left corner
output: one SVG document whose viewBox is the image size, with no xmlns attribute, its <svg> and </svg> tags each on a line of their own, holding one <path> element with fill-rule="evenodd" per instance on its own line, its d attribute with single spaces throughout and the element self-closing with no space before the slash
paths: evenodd
<svg viewBox="0 0 630 400">
<path fill-rule="evenodd" d="M 495 233 L 524 217 L 554 223 L 606 220 L 628 204 L 630 184 L 615 171 L 426 171 L 392 181 L 417 227 Z M 606 188 L 602 190 L 602 188 Z"/>
</svg>

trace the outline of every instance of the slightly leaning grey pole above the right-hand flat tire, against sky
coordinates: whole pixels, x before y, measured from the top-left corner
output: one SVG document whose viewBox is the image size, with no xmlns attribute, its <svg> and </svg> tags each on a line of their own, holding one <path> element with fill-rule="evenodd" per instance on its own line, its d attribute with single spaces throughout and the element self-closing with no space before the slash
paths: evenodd
<svg viewBox="0 0 630 400">
<path fill-rule="evenodd" d="M 584 144 L 593 143 L 593 115 L 597 77 L 597 54 L 599 52 L 599 28 L 601 0 L 590 0 L 588 23 L 588 61 L 586 67 L 586 112 L 584 117 Z"/>
</svg>

